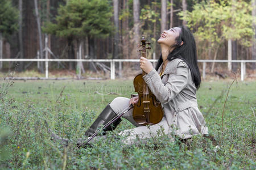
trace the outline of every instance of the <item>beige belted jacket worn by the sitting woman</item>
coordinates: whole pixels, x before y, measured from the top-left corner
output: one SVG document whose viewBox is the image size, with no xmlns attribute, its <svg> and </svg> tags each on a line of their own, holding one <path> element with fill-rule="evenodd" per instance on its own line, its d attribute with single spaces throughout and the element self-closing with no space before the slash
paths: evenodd
<svg viewBox="0 0 256 170">
<path fill-rule="evenodd" d="M 161 102 L 172 131 L 183 139 L 208 134 L 203 114 L 197 107 L 196 87 L 187 63 L 179 58 L 169 61 L 160 77 L 162 66 L 163 63 L 158 71 L 152 69 L 143 79 Z"/>
</svg>

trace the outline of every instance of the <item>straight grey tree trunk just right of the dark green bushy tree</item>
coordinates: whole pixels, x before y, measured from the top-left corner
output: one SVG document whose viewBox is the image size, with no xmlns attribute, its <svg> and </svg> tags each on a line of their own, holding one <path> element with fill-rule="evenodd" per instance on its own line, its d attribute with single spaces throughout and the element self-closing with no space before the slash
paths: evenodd
<svg viewBox="0 0 256 170">
<path fill-rule="evenodd" d="M 114 35 L 114 50 L 113 59 L 119 58 L 118 56 L 118 45 L 119 45 L 119 25 L 118 25 L 118 0 L 113 0 L 114 6 L 114 25 L 115 25 L 115 35 Z"/>
</svg>

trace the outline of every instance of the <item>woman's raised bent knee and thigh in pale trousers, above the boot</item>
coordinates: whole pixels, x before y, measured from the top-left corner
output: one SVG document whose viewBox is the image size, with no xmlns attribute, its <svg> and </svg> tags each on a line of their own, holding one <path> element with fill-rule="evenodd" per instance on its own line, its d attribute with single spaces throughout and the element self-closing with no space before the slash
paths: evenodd
<svg viewBox="0 0 256 170">
<path fill-rule="evenodd" d="M 130 99 L 127 97 L 115 97 L 115 99 L 113 99 L 109 105 L 115 113 L 119 114 L 123 111 L 123 109 L 129 107 L 129 101 Z M 131 108 L 130 111 L 123 114 L 122 117 L 126 118 L 136 127 L 141 126 L 137 124 L 137 122 L 135 122 L 133 119 L 133 108 Z"/>
</svg>

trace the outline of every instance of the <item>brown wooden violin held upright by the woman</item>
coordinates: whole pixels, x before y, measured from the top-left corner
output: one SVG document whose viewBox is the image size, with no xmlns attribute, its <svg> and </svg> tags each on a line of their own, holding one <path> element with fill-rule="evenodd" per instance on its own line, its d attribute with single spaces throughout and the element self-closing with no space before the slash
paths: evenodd
<svg viewBox="0 0 256 170">
<path fill-rule="evenodd" d="M 151 49 L 150 46 L 146 47 L 146 44 L 150 45 L 150 42 L 146 41 L 145 37 L 142 37 L 142 44 L 138 44 L 138 48 L 142 47 L 142 49 L 137 50 L 142 52 L 141 56 L 144 58 L 147 58 L 146 49 Z M 144 82 L 142 76 L 145 74 L 142 70 L 142 74 L 138 74 L 133 80 L 135 92 L 138 93 L 139 97 L 138 102 L 134 104 L 133 119 L 139 125 L 154 125 L 162 120 L 164 112 L 160 101 L 156 99 L 148 88 L 147 83 Z"/>
</svg>

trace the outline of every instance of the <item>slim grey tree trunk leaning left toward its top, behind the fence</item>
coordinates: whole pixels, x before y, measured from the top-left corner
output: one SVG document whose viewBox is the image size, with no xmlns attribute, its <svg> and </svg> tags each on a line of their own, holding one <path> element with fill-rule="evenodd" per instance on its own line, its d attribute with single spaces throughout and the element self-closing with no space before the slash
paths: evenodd
<svg viewBox="0 0 256 170">
<path fill-rule="evenodd" d="M 39 58 L 43 58 L 43 42 L 42 42 L 40 16 L 39 16 L 39 12 L 38 12 L 38 0 L 34 0 L 34 3 L 35 3 L 36 23 L 38 24 Z M 44 72 L 43 62 L 40 62 L 40 72 L 41 73 Z"/>
</svg>

